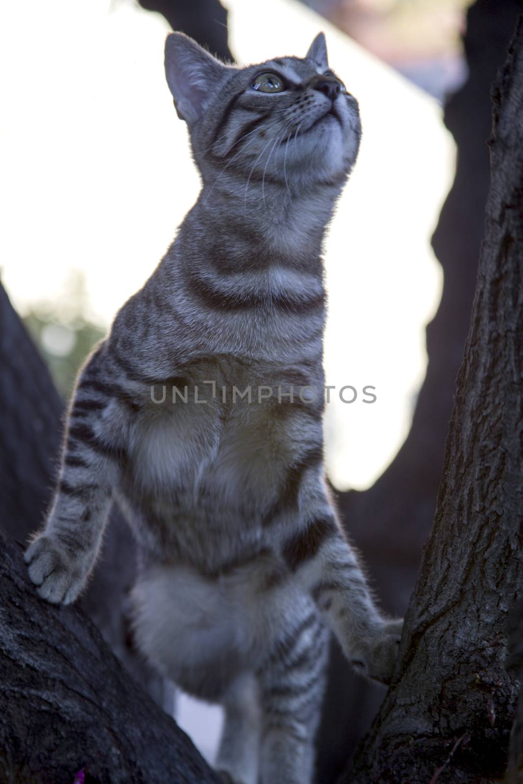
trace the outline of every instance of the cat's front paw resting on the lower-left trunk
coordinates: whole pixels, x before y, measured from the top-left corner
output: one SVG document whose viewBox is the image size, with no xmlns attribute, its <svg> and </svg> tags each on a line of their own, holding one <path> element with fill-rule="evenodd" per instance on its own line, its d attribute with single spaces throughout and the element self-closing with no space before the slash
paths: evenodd
<svg viewBox="0 0 523 784">
<path fill-rule="evenodd" d="M 71 604 L 85 585 L 88 570 L 82 559 L 64 552 L 52 536 L 38 536 L 27 548 L 24 561 L 38 595 L 52 604 Z"/>
</svg>

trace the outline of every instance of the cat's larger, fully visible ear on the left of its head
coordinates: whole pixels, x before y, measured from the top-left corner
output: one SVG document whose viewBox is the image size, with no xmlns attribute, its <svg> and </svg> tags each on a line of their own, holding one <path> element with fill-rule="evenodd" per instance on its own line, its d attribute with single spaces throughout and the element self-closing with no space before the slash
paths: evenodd
<svg viewBox="0 0 523 784">
<path fill-rule="evenodd" d="M 223 76 L 225 66 L 183 33 L 169 33 L 165 41 L 165 77 L 180 119 L 191 126 Z"/>
</svg>

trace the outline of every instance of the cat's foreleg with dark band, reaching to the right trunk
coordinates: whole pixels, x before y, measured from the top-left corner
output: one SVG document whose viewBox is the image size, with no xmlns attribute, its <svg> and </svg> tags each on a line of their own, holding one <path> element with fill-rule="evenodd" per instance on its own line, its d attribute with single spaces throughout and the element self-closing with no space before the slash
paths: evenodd
<svg viewBox="0 0 523 784">
<path fill-rule="evenodd" d="M 300 520 L 282 544 L 282 555 L 355 669 L 389 683 L 403 622 L 384 618 L 376 608 L 322 481 L 302 490 Z"/>
</svg>

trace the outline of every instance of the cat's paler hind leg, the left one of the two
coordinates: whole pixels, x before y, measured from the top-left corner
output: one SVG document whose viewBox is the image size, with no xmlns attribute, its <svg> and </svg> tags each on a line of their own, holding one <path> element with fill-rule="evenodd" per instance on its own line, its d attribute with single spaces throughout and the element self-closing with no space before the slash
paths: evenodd
<svg viewBox="0 0 523 784">
<path fill-rule="evenodd" d="M 222 702 L 224 712 L 216 770 L 227 784 L 257 784 L 260 695 L 253 673 L 234 681 Z"/>
</svg>

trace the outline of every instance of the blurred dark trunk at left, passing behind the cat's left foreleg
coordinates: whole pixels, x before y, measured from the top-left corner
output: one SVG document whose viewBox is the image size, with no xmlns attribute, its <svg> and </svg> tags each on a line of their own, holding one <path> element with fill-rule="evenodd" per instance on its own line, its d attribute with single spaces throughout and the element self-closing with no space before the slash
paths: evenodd
<svg viewBox="0 0 523 784">
<path fill-rule="evenodd" d="M 0 528 L 20 544 L 42 524 L 51 502 L 63 419 L 49 370 L 0 285 Z M 136 655 L 129 637 L 125 607 L 135 574 L 133 536 L 114 508 L 81 605 L 136 681 L 168 707 L 169 688 Z"/>
</svg>

